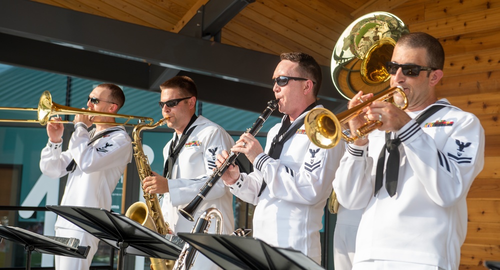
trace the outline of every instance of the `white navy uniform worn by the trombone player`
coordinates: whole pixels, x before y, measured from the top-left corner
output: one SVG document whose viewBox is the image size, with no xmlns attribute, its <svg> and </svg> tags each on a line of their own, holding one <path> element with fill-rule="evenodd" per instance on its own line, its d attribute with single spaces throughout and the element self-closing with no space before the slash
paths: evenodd
<svg viewBox="0 0 500 270">
<path fill-rule="evenodd" d="M 132 159 L 131 139 L 123 127 L 111 127 L 104 131 L 115 130 L 114 132 L 104 135 L 87 146 L 91 137 L 100 136 L 99 134 L 104 131 L 93 134 L 94 129 L 89 133 L 86 125 L 81 122 L 76 123 L 74 128 L 75 131 L 71 135 L 66 151 L 62 152 L 62 142 L 48 141 L 41 151 L 40 170 L 50 178 L 60 178 L 69 173 L 60 205 L 110 210 L 111 193 L 123 174 L 126 164 Z M 72 172 L 67 172 L 66 167 L 73 159 L 76 162 L 76 168 Z M 58 229 L 65 232 L 71 232 L 66 230 L 78 231 L 75 236 L 80 237 L 75 238 L 80 239 L 80 245 L 91 246 L 87 256 L 88 265 L 90 265 L 93 254 L 97 250 L 96 238 L 92 241 L 92 245 L 84 243 L 81 234 L 93 237 L 59 216 L 55 222 L 55 229 L 56 234 Z M 63 260 L 66 259 L 81 261 L 76 258 L 63 258 Z M 70 265 L 70 268 L 76 269 L 77 264 L 79 263 Z M 61 266 L 60 269 L 64 267 Z"/>
</svg>

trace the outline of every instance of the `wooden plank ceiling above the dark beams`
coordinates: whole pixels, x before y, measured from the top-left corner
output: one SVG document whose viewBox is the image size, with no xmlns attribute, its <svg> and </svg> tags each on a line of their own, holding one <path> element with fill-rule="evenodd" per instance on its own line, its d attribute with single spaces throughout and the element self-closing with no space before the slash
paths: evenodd
<svg viewBox="0 0 500 270">
<path fill-rule="evenodd" d="M 208 0 L 34 0 L 76 11 L 178 32 Z M 243 0 L 242 0 L 243 1 Z M 344 29 L 371 11 L 404 0 L 255 0 L 221 31 L 221 43 L 279 55 L 303 51 L 329 66 Z"/>
</svg>

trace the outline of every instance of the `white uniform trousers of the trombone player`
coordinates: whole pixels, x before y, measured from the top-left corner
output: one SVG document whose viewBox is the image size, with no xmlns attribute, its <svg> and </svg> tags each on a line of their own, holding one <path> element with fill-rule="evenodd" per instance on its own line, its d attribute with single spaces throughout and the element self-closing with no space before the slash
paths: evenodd
<svg viewBox="0 0 500 270">
<path fill-rule="evenodd" d="M 92 263 L 92 258 L 97 252 L 97 247 L 99 245 L 99 239 L 92 236 L 87 232 L 70 230 L 70 229 L 55 229 L 55 236 L 65 237 L 65 238 L 76 238 L 80 240 L 78 246 L 89 246 L 87 258 L 79 259 L 66 256 L 54 256 L 55 260 L 55 270 L 88 270 L 90 264 Z"/>
</svg>

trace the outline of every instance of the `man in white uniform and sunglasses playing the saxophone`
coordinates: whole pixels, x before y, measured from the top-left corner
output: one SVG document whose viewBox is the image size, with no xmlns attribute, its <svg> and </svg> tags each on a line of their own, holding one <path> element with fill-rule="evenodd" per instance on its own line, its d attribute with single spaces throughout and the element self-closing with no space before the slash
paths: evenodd
<svg viewBox="0 0 500 270">
<path fill-rule="evenodd" d="M 163 194 L 161 211 L 174 233 L 191 232 L 194 222 L 178 214 L 196 197 L 200 188 L 215 168 L 215 157 L 228 149 L 234 140 L 220 126 L 199 115 L 196 116 L 197 90 L 193 80 L 175 76 L 160 85 L 159 105 L 166 124 L 175 130 L 173 138 L 163 148 L 165 167 L 163 176 L 143 180 L 142 188 L 148 193 Z M 208 208 L 218 209 L 223 216 L 222 234 L 234 230 L 232 194 L 222 182 L 217 183 L 194 215 L 196 221 Z M 209 228 L 214 233 L 214 226 Z M 218 269 L 199 254 L 192 269 Z"/>
</svg>

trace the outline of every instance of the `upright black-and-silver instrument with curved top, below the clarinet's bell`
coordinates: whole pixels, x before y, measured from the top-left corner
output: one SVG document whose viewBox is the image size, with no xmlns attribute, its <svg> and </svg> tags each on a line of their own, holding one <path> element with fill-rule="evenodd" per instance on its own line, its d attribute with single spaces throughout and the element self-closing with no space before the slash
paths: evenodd
<svg viewBox="0 0 500 270">
<path fill-rule="evenodd" d="M 215 219 L 215 234 L 222 234 L 224 220 L 222 218 L 222 213 L 216 208 L 208 208 L 199 216 L 196 224 L 192 227 L 191 234 L 206 234 L 210 227 L 210 219 L 212 218 Z M 173 270 L 182 270 L 184 267 L 184 270 L 189 270 L 194 265 L 194 260 L 196 260 L 197 255 L 198 252 L 193 247 L 189 246 L 189 244 L 185 243 L 179 258 L 175 261 Z"/>
</svg>

